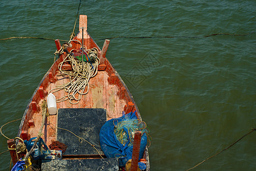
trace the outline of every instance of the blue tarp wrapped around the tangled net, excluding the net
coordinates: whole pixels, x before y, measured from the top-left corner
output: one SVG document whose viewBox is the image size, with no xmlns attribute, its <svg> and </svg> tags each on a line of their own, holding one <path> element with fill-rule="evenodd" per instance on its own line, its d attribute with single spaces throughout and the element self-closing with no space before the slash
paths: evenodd
<svg viewBox="0 0 256 171">
<path fill-rule="evenodd" d="M 130 143 L 129 138 L 126 144 L 121 144 L 117 140 L 117 136 L 115 136 L 114 133 L 114 123 L 129 119 L 137 119 L 135 112 L 130 112 L 122 117 L 107 121 L 99 132 L 99 141 L 101 142 L 102 151 L 109 158 L 118 157 L 120 167 L 125 167 L 126 162 L 131 159 L 131 156 L 133 154 L 133 145 L 128 146 L 128 144 Z M 124 131 L 127 133 L 127 129 L 124 128 Z M 143 157 L 146 145 L 147 136 L 146 133 L 143 133 L 141 137 L 141 147 L 139 150 L 139 160 Z"/>
</svg>

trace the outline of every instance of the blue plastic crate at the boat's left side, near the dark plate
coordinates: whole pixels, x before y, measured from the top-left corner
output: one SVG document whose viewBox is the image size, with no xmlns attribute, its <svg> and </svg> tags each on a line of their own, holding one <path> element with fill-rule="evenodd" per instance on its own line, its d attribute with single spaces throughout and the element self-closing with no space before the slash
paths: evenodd
<svg viewBox="0 0 256 171">
<path fill-rule="evenodd" d="M 34 141 L 37 137 L 31 138 L 29 141 L 24 140 L 24 144 L 26 145 L 27 150 L 30 150 L 34 145 Z M 39 139 L 37 145 L 35 145 L 34 151 L 31 153 L 31 156 L 34 160 L 43 159 L 50 154 L 50 149 L 45 144 L 42 138 Z"/>
</svg>

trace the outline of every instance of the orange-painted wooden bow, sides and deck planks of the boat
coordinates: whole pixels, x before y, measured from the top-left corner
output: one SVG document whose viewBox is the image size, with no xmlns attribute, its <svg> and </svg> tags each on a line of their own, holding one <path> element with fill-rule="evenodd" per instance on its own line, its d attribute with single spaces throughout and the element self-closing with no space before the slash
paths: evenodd
<svg viewBox="0 0 256 171">
<path fill-rule="evenodd" d="M 82 42 L 82 30 L 81 27 L 87 28 L 87 16 L 80 15 L 79 18 L 79 33 L 74 39 Z M 89 80 L 89 92 L 82 96 L 82 99 L 78 104 L 71 104 L 69 100 L 57 103 L 57 109 L 65 108 L 102 108 L 106 110 L 104 115 L 105 120 L 110 120 L 113 118 L 121 117 L 123 111 L 125 113 L 135 112 L 137 118 L 141 120 L 141 115 L 138 111 L 138 107 L 135 104 L 133 96 L 131 95 L 129 89 L 126 87 L 125 83 L 115 71 L 114 67 L 110 64 L 109 60 L 106 58 L 106 51 L 109 45 L 109 40 L 105 40 L 102 50 L 90 37 L 87 31 L 83 35 L 83 44 L 90 48 L 98 49 L 98 58 L 101 63 L 98 66 L 98 73 L 93 78 Z M 72 48 L 79 50 L 81 44 L 78 41 L 71 42 Z M 59 40 L 55 40 L 57 51 L 61 49 L 61 43 Z M 71 51 L 71 48 L 67 48 Z M 59 54 L 59 58 L 51 66 L 49 71 L 39 83 L 37 89 L 35 89 L 33 96 L 31 97 L 29 104 L 24 112 L 21 125 L 19 127 L 18 136 L 23 140 L 29 140 L 32 137 L 37 137 L 40 127 L 42 125 L 42 107 L 43 101 L 47 99 L 47 96 L 51 92 L 51 89 L 62 86 L 69 83 L 69 78 L 67 75 L 63 76 L 63 73 L 58 70 L 58 66 L 66 58 L 67 54 Z M 66 68 L 68 70 L 68 68 Z M 65 70 L 66 70 L 65 69 Z M 56 99 L 59 99 L 65 95 L 64 89 L 58 92 L 53 92 Z M 75 102 L 75 101 L 74 101 Z M 86 120 L 86 119 L 85 119 Z M 89 120 L 89 119 L 88 119 Z M 42 139 L 45 141 L 46 145 L 51 145 L 52 141 L 57 141 L 58 132 L 58 112 L 56 115 L 50 115 L 46 117 L 45 123 L 42 129 Z M 75 132 L 77 133 L 77 132 Z M 68 137 L 67 137 L 68 138 Z M 14 142 L 14 140 L 13 140 Z M 12 158 L 15 159 L 14 155 Z M 17 158 L 17 157 L 16 157 Z M 149 154 L 147 152 L 147 147 L 143 158 L 147 160 L 147 170 L 149 170 Z M 71 158 L 69 158 L 71 159 Z"/>
</svg>

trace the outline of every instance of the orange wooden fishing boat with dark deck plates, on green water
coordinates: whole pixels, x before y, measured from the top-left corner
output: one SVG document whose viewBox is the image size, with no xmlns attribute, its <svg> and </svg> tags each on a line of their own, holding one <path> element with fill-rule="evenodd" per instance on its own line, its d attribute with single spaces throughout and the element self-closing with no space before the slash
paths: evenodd
<svg viewBox="0 0 256 171">
<path fill-rule="evenodd" d="M 77 167 L 80 167 L 78 170 L 97 170 L 98 168 L 101 168 L 101 170 L 119 169 L 116 167 L 114 168 L 113 165 L 116 164 L 116 162 L 107 160 L 106 156 L 100 149 L 101 147 L 99 145 L 95 145 L 99 143 L 95 142 L 98 140 L 97 131 L 99 131 L 99 128 L 97 126 L 102 126 L 101 124 L 107 120 L 121 117 L 123 113 L 126 114 L 129 112 L 135 112 L 137 118 L 139 120 L 142 119 L 129 89 L 106 58 L 106 51 L 109 46 L 109 42 L 109 40 L 105 40 L 102 50 L 98 47 L 93 38 L 91 38 L 87 32 L 86 15 L 79 16 L 79 32 L 73 38 L 73 41 L 70 42 L 72 47 L 69 47 L 69 44 L 62 46 L 59 40 L 55 40 L 57 51 L 59 52 L 59 58 L 53 63 L 50 70 L 41 80 L 41 83 L 39 83 L 39 86 L 35 89 L 33 96 L 26 107 L 18 131 L 18 137 L 21 137 L 23 140 L 30 140 L 32 137 L 37 137 L 38 132 L 40 132 L 39 129 L 43 119 L 43 101 L 47 99 L 50 92 L 53 92 L 56 99 L 60 99 L 60 102 L 57 103 L 57 114 L 46 117 L 45 123 L 43 123 L 42 126 L 42 134 L 40 136 L 47 146 L 52 145 L 52 143 L 57 140 L 59 142 L 62 141 L 62 143 L 63 141 L 70 140 L 71 144 L 67 145 L 70 142 L 66 142 L 67 144 L 64 144 L 67 145 L 67 149 L 71 149 L 71 152 L 65 152 L 62 154 L 62 160 L 58 161 L 65 161 L 65 164 L 62 162 L 61 166 L 56 163 L 44 164 L 41 161 L 39 165 L 42 166 L 42 170 L 70 170 L 70 168 L 76 170 L 78 169 Z M 96 74 L 95 76 L 91 76 L 87 86 L 83 87 L 82 91 L 78 88 L 77 92 L 80 92 L 80 94 L 75 93 L 73 99 L 71 98 L 66 100 L 65 98 L 69 98 L 71 95 L 69 94 L 66 96 L 69 92 L 66 92 L 64 88 L 59 87 L 69 84 L 71 77 L 67 74 L 63 74 L 63 71 L 70 71 L 74 66 L 63 61 L 66 60 L 68 53 L 78 53 L 78 51 L 81 51 L 81 47 L 94 50 L 95 54 L 98 55 L 97 58 L 100 62 L 95 66 L 94 70 L 96 71 L 94 72 L 96 72 Z M 60 52 L 61 50 L 64 51 Z M 82 58 L 83 56 L 82 50 Z M 89 56 L 85 56 L 85 58 L 87 60 Z M 89 89 L 89 91 L 87 91 L 85 95 L 81 95 L 81 92 L 86 91 L 86 89 Z M 79 112 L 85 114 L 80 115 Z M 100 121 L 98 122 L 98 120 Z M 64 127 L 66 131 L 61 129 Z M 96 131 L 91 130 L 94 127 Z M 69 129 L 69 131 L 67 131 L 67 129 Z M 70 131 L 71 129 L 72 131 Z M 89 133 L 89 135 L 86 135 L 87 133 Z M 94 135 L 90 135 L 90 133 L 95 134 L 95 137 Z M 79 138 L 75 135 L 79 135 Z M 94 145 L 88 145 L 89 147 L 86 145 L 80 145 L 81 141 L 85 140 L 82 140 L 81 136 L 88 141 L 91 141 Z M 13 142 L 9 140 L 9 146 L 11 146 L 11 143 Z M 74 147 L 73 145 L 77 146 Z M 95 146 L 98 151 L 95 152 L 91 146 Z M 11 155 L 12 153 L 14 155 L 14 152 L 10 151 L 10 153 Z M 149 153 L 147 147 L 143 153 L 143 161 L 146 163 L 146 170 L 149 170 Z M 15 157 L 13 158 L 13 162 L 15 162 Z"/>
</svg>

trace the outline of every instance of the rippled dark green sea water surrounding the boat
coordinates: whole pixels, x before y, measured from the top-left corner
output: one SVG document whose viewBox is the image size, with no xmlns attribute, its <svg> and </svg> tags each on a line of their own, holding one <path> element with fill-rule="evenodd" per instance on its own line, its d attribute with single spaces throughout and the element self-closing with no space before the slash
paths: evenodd
<svg viewBox="0 0 256 171">
<path fill-rule="evenodd" d="M 69 39 L 79 1 L 3 1 L 0 38 Z M 82 1 L 88 31 L 129 87 L 152 137 L 151 170 L 186 170 L 256 127 L 256 1 Z M 76 31 L 78 30 L 78 25 Z M 249 34 L 246 36 L 210 34 Z M 0 125 L 23 116 L 52 40 L 0 40 Z M 3 128 L 17 135 L 19 122 Z M 256 133 L 194 170 L 256 170 Z M 0 136 L 0 152 L 7 150 Z M 0 170 L 8 170 L 9 153 Z"/>
</svg>

